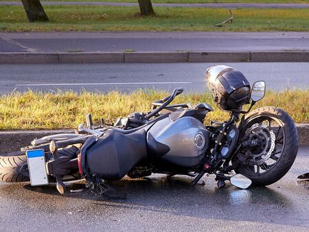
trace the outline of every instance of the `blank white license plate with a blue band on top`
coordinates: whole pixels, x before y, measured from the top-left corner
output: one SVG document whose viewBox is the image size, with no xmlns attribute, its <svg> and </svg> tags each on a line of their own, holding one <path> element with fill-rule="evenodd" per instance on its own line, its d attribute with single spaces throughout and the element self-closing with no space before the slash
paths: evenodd
<svg viewBox="0 0 309 232">
<path fill-rule="evenodd" d="M 31 185 L 48 185 L 44 150 L 28 150 L 26 154 Z"/>
</svg>

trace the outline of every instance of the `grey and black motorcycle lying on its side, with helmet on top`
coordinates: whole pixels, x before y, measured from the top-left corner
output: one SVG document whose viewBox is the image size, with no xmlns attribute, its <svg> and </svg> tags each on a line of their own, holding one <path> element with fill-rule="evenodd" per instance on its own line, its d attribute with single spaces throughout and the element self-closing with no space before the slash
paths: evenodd
<svg viewBox="0 0 309 232">
<path fill-rule="evenodd" d="M 85 178 L 87 186 L 104 185 L 125 175 L 192 176 L 196 185 L 204 174 L 214 174 L 218 187 L 225 181 L 240 188 L 271 185 L 279 181 L 295 161 L 298 134 L 293 120 L 279 108 L 265 106 L 251 111 L 264 97 L 265 83 L 251 88 L 244 75 L 224 65 L 210 67 L 206 81 L 214 101 L 229 112 L 226 121 L 204 126 L 209 104 L 170 104 L 183 93 L 152 103 L 148 113 L 132 113 L 114 126 L 80 125 L 75 134 L 34 139 L 31 146 L 0 156 L 0 179 L 30 181 L 32 185 Z M 244 111 L 242 106 L 250 104 Z"/>
</svg>

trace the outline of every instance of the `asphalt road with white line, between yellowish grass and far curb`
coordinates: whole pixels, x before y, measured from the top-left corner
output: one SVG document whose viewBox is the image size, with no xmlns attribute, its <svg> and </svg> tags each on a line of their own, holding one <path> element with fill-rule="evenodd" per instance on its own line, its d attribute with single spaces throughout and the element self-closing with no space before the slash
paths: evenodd
<svg viewBox="0 0 309 232">
<path fill-rule="evenodd" d="M 185 93 L 206 91 L 205 71 L 218 63 L 172 64 L 76 64 L 0 65 L 0 94 L 12 91 L 172 89 L 183 86 Z M 249 82 L 265 80 L 267 89 L 309 86 L 308 62 L 225 63 Z"/>
</svg>

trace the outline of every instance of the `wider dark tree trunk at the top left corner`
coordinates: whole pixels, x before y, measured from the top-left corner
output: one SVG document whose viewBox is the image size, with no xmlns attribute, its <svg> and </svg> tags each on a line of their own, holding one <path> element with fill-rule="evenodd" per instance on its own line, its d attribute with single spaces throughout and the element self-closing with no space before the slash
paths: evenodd
<svg viewBox="0 0 309 232">
<path fill-rule="evenodd" d="M 30 22 L 49 20 L 40 0 L 21 0 L 21 2 Z"/>
</svg>

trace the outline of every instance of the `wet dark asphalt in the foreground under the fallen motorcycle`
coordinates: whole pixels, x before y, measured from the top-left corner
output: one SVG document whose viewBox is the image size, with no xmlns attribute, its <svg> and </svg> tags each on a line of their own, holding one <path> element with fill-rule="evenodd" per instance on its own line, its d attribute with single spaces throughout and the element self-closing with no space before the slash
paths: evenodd
<svg viewBox="0 0 309 232">
<path fill-rule="evenodd" d="M 309 146 L 302 146 L 288 174 L 268 187 L 217 189 L 192 178 L 162 175 L 111 183 L 126 200 L 99 196 L 60 196 L 54 185 L 0 183 L 1 231 L 308 231 L 309 183 L 296 176 L 309 171 Z M 70 189 L 81 185 L 71 183 Z"/>
</svg>

